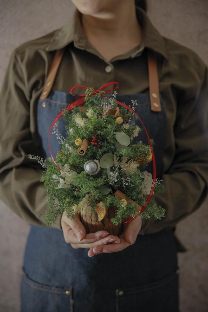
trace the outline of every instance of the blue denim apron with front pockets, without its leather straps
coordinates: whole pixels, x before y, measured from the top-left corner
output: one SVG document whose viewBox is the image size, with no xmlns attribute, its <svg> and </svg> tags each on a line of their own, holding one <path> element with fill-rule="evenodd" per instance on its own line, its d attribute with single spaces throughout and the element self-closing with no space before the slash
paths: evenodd
<svg viewBox="0 0 208 312">
<path fill-rule="evenodd" d="M 48 132 L 56 115 L 76 98 L 51 90 L 38 101 L 38 132 L 41 157 L 49 157 Z M 119 95 L 127 105 L 137 100 L 136 113 L 154 140 L 157 177 L 162 178 L 162 155 L 166 134 L 166 111 L 153 112 L 149 94 Z M 139 121 L 132 119 L 130 124 Z M 64 120 L 58 131 L 65 135 Z M 134 139 L 148 144 L 144 130 Z M 55 157 L 60 144 L 51 134 Z M 151 165 L 146 169 L 152 173 Z M 87 255 L 88 249 L 74 249 L 63 232 L 31 225 L 25 249 L 21 281 L 22 312 L 177 312 L 178 266 L 173 230 L 138 235 L 123 251 Z"/>
</svg>

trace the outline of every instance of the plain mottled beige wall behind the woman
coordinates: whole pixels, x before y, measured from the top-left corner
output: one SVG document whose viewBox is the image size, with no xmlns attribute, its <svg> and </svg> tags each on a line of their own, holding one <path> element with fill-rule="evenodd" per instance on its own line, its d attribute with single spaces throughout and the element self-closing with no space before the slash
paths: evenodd
<svg viewBox="0 0 208 312">
<path fill-rule="evenodd" d="M 208 65 L 208 0 L 148 0 L 148 4 L 148 15 L 159 32 L 194 50 Z M 12 50 L 61 27 L 73 11 L 70 0 L 0 0 L 0 85 Z M 188 249 L 179 254 L 181 312 L 208 311 L 207 206 L 208 201 L 177 226 L 178 237 Z M 30 227 L 2 202 L 0 217 L 0 311 L 18 312 Z"/>
</svg>

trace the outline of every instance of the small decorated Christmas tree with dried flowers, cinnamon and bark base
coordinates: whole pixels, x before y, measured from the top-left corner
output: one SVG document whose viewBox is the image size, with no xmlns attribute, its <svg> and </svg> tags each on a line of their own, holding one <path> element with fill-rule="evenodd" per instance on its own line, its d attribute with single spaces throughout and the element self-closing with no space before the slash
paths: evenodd
<svg viewBox="0 0 208 312">
<path fill-rule="evenodd" d="M 132 101 L 131 110 L 119 106 L 116 94 L 108 97 L 104 90 L 95 93 L 88 88 L 82 106 L 63 110 L 67 137 L 60 140 L 55 161 L 28 155 L 46 169 L 41 180 L 47 190 L 47 226 L 63 212 L 70 219 L 80 213 L 86 233 L 106 230 L 119 235 L 122 222 L 139 214 L 164 216 L 164 208 L 153 200 L 146 202 L 152 188 L 163 188 L 161 180 L 153 181 L 145 170 L 152 148 L 139 140 L 142 129 L 133 113 L 137 103 Z M 57 123 L 53 129 L 57 135 Z"/>
</svg>

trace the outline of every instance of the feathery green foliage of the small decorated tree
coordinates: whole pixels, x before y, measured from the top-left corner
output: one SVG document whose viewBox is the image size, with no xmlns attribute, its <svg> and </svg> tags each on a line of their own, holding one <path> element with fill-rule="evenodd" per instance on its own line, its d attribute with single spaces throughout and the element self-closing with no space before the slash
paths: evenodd
<svg viewBox="0 0 208 312">
<path fill-rule="evenodd" d="M 117 225 L 123 222 L 125 217 L 135 217 L 138 214 L 136 203 L 142 207 L 148 197 L 148 191 L 145 189 L 147 172 L 144 170 L 149 164 L 151 148 L 139 140 L 135 143 L 135 137 L 139 138 L 141 132 L 138 118 L 130 110 L 119 106 L 118 117 L 123 116 L 123 122 L 117 124 L 116 117 L 107 114 L 108 109 L 115 110 L 118 106 L 116 92 L 111 97 L 102 96 L 106 95 L 104 91 L 90 96 L 91 93 L 92 88 L 87 89 L 84 105 L 75 107 L 70 112 L 65 110 L 63 114 L 67 137 L 63 139 L 60 136 L 60 152 L 55 158 L 62 171 L 50 162 L 50 159 L 43 162 L 46 169 L 41 175 L 41 181 L 44 181 L 47 190 L 47 226 L 56 222 L 58 215 L 64 211 L 67 217 L 74 219 L 77 209 L 80 208 L 82 212 L 80 202 L 89 195 L 87 204 L 92 207 L 92 212 L 96 203 L 100 201 L 104 202 L 106 207 L 110 204 L 118 207 L 117 216 L 111 220 Z M 134 102 L 133 105 L 137 104 Z M 132 118 L 135 119 L 135 124 L 129 125 Z M 97 145 L 90 143 L 93 136 L 99 139 Z M 75 144 L 76 139 L 89 140 L 85 155 L 77 153 L 79 146 Z M 31 155 L 29 157 L 35 158 Z M 142 165 L 138 164 L 138 158 Z M 38 160 L 41 161 L 40 158 Z M 98 173 L 91 175 L 84 166 L 86 162 L 94 160 L 100 161 L 101 168 Z M 155 193 L 163 191 L 160 181 L 158 179 L 155 182 Z M 123 207 L 119 198 L 114 196 L 117 189 L 134 202 Z M 86 205 L 86 202 L 84 204 Z M 164 209 L 151 200 L 141 217 L 150 218 L 153 215 L 155 219 L 160 220 L 164 213 Z"/>
</svg>

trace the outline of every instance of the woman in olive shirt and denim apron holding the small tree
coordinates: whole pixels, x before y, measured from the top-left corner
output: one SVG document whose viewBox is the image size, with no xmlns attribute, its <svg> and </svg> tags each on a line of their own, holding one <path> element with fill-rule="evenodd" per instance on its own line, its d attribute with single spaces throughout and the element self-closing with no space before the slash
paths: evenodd
<svg viewBox="0 0 208 312">
<path fill-rule="evenodd" d="M 22 311 L 178 311 L 173 228 L 207 194 L 207 67 L 194 52 L 162 37 L 133 0 L 73 3 L 77 10 L 66 25 L 15 49 L 1 91 L 0 124 L 7 129 L 1 138 L 1 198 L 31 223 Z M 49 69 L 62 48 L 51 82 Z M 160 94 L 149 94 L 149 53 L 157 60 Z M 119 83 L 117 100 L 137 100 L 155 141 L 165 192 L 154 199 L 166 216 L 137 217 L 119 237 L 106 231 L 85 235 L 79 215 L 71 221 L 63 214 L 44 227 L 42 169 L 27 154 L 49 156 L 48 131 L 61 108 L 75 100 L 71 86 L 99 89 L 110 81 Z M 151 106 L 152 98 L 160 110 Z"/>
</svg>

